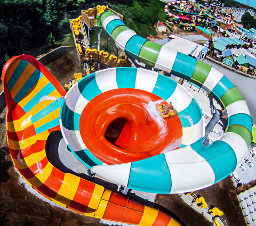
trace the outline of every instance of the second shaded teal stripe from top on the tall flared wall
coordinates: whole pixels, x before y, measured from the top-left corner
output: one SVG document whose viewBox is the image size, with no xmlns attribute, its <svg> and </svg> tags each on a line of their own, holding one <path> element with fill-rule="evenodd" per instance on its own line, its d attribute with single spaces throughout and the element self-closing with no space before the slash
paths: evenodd
<svg viewBox="0 0 256 226">
<path fill-rule="evenodd" d="M 19 103 L 42 76 L 43 74 L 36 69 L 35 72 L 31 74 L 31 76 L 28 78 L 25 84 L 21 87 L 18 94 L 13 98 L 14 101 L 16 103 Z"/>
</svg>

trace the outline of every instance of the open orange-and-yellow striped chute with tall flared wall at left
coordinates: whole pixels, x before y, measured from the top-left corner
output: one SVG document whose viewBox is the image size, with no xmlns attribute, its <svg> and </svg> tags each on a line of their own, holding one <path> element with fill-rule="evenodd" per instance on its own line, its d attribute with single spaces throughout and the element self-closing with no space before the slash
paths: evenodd
<svg viewBox="0 0 256 226">
<path fill-rule="evenodd" d="M 89 78 L 89 77 L 86 77 Z M 7 141 L 22 177 L 44 197 L 86 216 L 139 225 L 179 226 L 173 217 L 57 169 L 46 149 L 47 139 L 60 131 L 66 91 L 33 56 L 12 57 L 2 72 L 7 103 Z M 79 144 L 77 144 L 79 145 Z"/>
</svg>

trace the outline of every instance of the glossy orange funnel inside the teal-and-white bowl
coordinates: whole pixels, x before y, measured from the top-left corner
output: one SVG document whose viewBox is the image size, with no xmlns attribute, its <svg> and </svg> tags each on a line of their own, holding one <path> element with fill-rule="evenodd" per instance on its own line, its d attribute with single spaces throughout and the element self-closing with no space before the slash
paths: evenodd
<svg viewBox="0 0 256 226">
<path fill-rule="evenodd" d="M 147 110 L 147 105 L 154 102 L 166 103 L 155 94 L 131 88 L 109 90 L 94 97 L 85 106 L 79 122 L 84 144 L 107 164 L 134 162 L 160 154 L 171 141 L 182 137 L 182 125 L 178 115 L 159 125 Z M 114 145 L 105 139 L 105 133 L 118 119 L 126 122 Z"/>
</svg>

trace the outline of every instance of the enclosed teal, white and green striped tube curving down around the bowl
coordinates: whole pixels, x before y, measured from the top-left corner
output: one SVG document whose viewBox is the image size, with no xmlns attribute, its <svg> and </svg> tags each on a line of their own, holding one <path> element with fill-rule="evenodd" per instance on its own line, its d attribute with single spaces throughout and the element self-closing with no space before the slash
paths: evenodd
<svg viewBox="0 0 256 226">
<path fill-rule="evenodd" d="M 131 188 L 137 190 L 158 192 L 159 188 L 164 187 L 163 193 L 205 188 L 232 173 L 245 157 L 252 141 L 252 118 L 246 101 L 236 86 L 211 66 L 137 35 L 113 12 L 103 12 L 100 22 L 116 46 L 125 54 L 193 82 L 212 95 L 223 109 L 227 129 L 220 140 L 206 147 L 202 145 L 203 138 L 198 137 L 193 144 L 146 160 L 93 166 L 91 171 L 128 188 L 132 185 Z M 118 172 L 122 172 L 125 177 L 118 177 Z M 133 183 L 132 180 L 138 183 Z"/>
</svg>

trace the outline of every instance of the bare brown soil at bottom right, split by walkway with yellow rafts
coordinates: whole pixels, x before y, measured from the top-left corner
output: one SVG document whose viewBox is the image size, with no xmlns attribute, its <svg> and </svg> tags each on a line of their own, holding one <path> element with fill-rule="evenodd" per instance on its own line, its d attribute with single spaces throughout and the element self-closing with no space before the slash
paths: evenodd
<svg viewBox="0 0 256 226">
<path fill-rule="evenodd" d="M 223 211 L 224 214 L 222 217 L 228 225 L 246 225 L 236 197 L 236 190 L 230 177 L 209 188 L 198 190 L 194 193 L 203 196 L 209 206 L 214 205 Z M 210 221 L 206 220 L 202 215 L 183 202 L 179 195 L 157 195 L 156 203 L 161 204 L 161 206 L 166 207 L 175 215 L 179 216 L 180 220 L 186 226 L 212 225 Z"/>
</svg>

